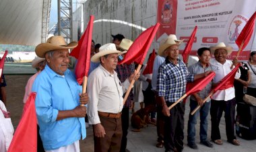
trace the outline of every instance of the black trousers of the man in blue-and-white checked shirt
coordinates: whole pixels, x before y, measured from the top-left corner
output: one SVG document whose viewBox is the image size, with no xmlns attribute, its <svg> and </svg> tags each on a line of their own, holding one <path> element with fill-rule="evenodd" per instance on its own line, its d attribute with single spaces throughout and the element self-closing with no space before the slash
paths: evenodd
<svg viewBox="0 0 256 152">
<path fill-rule="evenodd" d="M 167 106 L 174 102 L 166 102 Z M 179 103 L 170 109 L 170 116 L 164 116 L 165 151 L 183 151 L 185 104 Z"/>
</svg>

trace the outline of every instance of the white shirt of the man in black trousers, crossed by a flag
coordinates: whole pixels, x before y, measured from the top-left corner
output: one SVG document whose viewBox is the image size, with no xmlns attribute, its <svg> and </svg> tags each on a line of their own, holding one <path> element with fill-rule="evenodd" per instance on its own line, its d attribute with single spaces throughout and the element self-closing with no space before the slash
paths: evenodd
<svg viewBox="0 0 256 152">
<path fill-rule="evenodd" d="M 232 61 L 226 60 L 226 62 L 222 65 L 221 63 L 216 61 L 216 59 L 212 59 L 210 63 L 213 67 L 212 69 L 216 73 L 216 76 L 213 79 L 213 83 L 218 83 L 220 80 L 222 80 L 223 77 L 225 77 L 226 75 L 228 75 L 228 73 L 232 71 L 232 69 L 230 69 L 232 65 Z M 234 79 L 238 79 L 240 76 L 241 76 L 240 71 L 238 71 Z M 234 87 L 230 87 L 228 89 L 216 91 L 216 93 L 214 93 L 214 95 L 212 96 L 212 100 L 228 101 L 228 100 L 232 100 L 234 97 L 235 97 Z"/>
</svg>

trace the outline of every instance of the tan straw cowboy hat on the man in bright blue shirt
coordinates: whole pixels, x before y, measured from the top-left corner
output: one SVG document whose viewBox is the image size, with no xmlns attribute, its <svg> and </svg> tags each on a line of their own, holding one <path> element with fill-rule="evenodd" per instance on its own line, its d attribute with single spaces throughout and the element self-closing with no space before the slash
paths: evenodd
<svg viewBox="0 0 256 152">
<path fill-rule="evenodd" d="M 48 38 L 46 43 L 41 43 L 36 46 L 36 55 L 40 58 L 44 58 L 46 52 L 51 50 L 65 50 L 69 48 L 75 48 L 77 42 L 71 42 L 67 44 L 62 36 L 52 36 Z"/>
</svg>

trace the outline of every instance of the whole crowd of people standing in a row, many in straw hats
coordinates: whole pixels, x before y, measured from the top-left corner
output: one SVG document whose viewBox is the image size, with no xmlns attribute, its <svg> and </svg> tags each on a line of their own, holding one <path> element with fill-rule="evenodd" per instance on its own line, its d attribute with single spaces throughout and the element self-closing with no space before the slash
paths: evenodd
<svg viewBox="0 0 256 152">
<path fill-rule="evenodd" d="M 75 48 L 77 42 L 67 44 L 62 36 L 53 36 L 46 43 L 36 46 L 38 57 L 32 62 L 32 67 L 38 72 L 28 80 L 24 104 L 30 92 L 36 92 L 38 151 L 79 151 L 79 140 L 86 138 L 86 122 L 93 127 L 94 151 L 129 151 L 127 133 L 130 109 L 134 108 L 134 102 L 144 103 L 140 104 L 141 109 L 154 106 L 154 110 L 146 114 L 146 122 L 156 123 L 156 147 L 164 147 L 165 151 L 183 151 L 185 101 L 179 102 L 171 109 L 168 107 L 185 94 L 188 82 L 207 77 L 212 71 L 216 73 L 214 79 L 190 97 L 190 111 L 197 106 L 201 108 L 195 114 L 190 114 L 189 120 L 186 120 L 187 145 L 191 149 L 198 149 L 195 141 L 198 116 L 200 143 L 207 147 L 214 147 L 213 143 L 222 145 L 219 128 L 222 112 L 225 113 L 228 143 L 240 145 L 234 135 L 235 106 L 237 102 L 243 102 L 245 93 L 255 97 L 256 52 L 251 52 L 246 63 L 238 63 L 237 59 L 229 61 L 227 56 L 232 52 L 232 47 L 220 42 L 210 48 L 199 48 L 199 61 L 187 67 L 179 57 L 179 46 L 183 40 L 178 40 L 175 35 L 170 34 L 160 42 L 152 73 L 143 74 L 147 64 L 137 73 L 136 63 L 117 64 L 123 60 L 133 41 L 122 34 L 112 37 L 112 43 L 102 46 L 94 45 L 92 40 L 86 93 L 82 93 L 82 86 L 77 83 L 75 74 L 68 69 L 69 49 Z M 212 55 L 214 59 L 211 58 Z M 211 89 L 238 64 L 241 64 L 241 67 L 236 72 L 234 87 L 227 86 L 216 91 L 212 100 L 203 103 Z M 2 88 L 6 84 L 4 77 L 1 80 Z M 133 80 L 133 91 L 123 104 L 125 93 Z M 0 151 L 7 151 L 13 127 L 9 112 L 4 106 L 6 96 L 3 91 L 1 100 L 1 122 L 6 122 L 0 125 L 0 145 L 3 147 Z M 207 135 L 209 112 L 212 124 L 210 137 Z"/>
</svg>

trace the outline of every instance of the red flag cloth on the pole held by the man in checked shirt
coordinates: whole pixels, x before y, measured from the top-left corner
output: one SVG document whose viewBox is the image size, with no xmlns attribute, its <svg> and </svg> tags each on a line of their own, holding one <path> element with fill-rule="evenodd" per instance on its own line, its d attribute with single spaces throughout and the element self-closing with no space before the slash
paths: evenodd
<svg viewBox="0 0 256 152">
<path fill-rule="evenodd" d="M 201 91 L 212 79 L 214 79 L 215 73 L 212 71 L 207 77 L 197 79 L 196 81 L 189 82 L 186 85 L 187 96 Z"/>
</svg>

